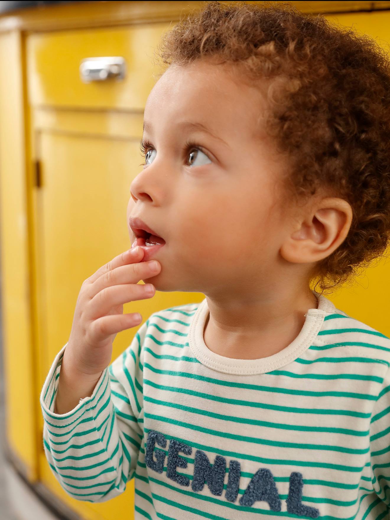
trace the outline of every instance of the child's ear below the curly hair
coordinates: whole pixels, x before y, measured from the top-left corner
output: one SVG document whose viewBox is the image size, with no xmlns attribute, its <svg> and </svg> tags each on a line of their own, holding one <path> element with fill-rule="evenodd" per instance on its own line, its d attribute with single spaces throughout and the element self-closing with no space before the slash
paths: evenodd
<svg viewBox="0 0 390 520">
<path fill-rule="evenodd" d="M 352 207 L 344 199 L 327 197 L 310 206 L 285 239 L 280 254 L 288 262 L 312 263 L 342 244 L 352 223 Z M 296 221 L 295 221 L 296 222 Z"/>
</svg>

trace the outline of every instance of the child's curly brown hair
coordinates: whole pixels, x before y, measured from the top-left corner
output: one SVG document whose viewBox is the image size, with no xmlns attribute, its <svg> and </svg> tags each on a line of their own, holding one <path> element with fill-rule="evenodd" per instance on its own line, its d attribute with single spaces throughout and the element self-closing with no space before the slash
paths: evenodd
<svg viewBox="0 0 390 520">
<path fill-rule="evenodd" d="M 385 254 L 390 231 L 390 61 L 367 35 L 291 4 L 207 2 L 165 33 L 167 66 L 198 58 L 240 67 L 269 83 L 269 135 L 289 157 L 286 193 L 328 190 L 353 220 L 345 240 L 310 272 L 322 292 Z M 261 84 L 262 82 L 259 82 Z"/>
</svg>

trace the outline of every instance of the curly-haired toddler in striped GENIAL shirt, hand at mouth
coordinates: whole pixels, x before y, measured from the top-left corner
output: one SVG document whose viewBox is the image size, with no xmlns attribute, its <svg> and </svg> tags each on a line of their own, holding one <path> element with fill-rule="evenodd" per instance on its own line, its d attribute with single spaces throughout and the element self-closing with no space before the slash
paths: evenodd
<svg viewBox="0 0 390 520">
<path fill-rule="evenodd" d="M 386 251 L 387 56 L 244 2 L 206 3 L 158 50 L 133 248 L 82 284 L 41 394 L 47 461 L 87 502 L 135 478 L 123 519 L 387 518 L 390 339 L 324 295 Z M 142 320 L 123 304 L 155 289 L 205 298 L 111 363 Z"/>
</svg>

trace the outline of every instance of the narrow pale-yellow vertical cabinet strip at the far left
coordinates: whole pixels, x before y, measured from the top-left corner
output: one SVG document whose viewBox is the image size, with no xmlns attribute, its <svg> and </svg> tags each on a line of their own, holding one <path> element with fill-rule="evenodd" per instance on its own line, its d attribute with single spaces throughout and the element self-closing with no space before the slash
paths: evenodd
<svg viewBox="0 0 390 520">
<path fill-rule="evenodd" d="M 36 478 L 35 359 L 31 342 L 21 42 L 0 35 L 0 238 L 6 435 L 29 478 Z M 6 73 L 5 73 L 6 71 Z"/>
</svg>

